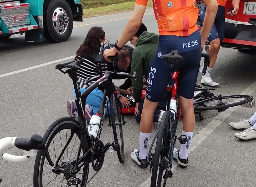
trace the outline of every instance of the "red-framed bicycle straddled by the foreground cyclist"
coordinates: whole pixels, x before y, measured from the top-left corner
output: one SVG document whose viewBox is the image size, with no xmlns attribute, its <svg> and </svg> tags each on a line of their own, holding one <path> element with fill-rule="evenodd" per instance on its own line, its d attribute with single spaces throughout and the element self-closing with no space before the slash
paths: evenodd
<svg viewBox="0 0 256 187">
<path fill-rule="evenodd" d="M 207 64 L 209 63 L 209 47 L 205 46 L 205 53 L 201 54 L 204 57 L 204 68 L 202 75 L 205 75 Z M 158 131 L 153 138 L 150 150 L 147 156 L 147 164 L 150 165 L 151 174 L 151 187 L 160 187 L 162 180 L 163 186 L 166 185 L 167 178 L 173 176 L 172 168 L 172 153 L 176 144 L 176 140 L 179 140 L 181 144 L 185 144 L 188 139 L 185 135 L 180 137 L 176 136 L 176 129 L 178 125 L 178 120 L 181 117 L 181 108 L 178 104 L 178 74 L 179 71 L 173 71 L 173 66 L 183 57 L 178 54 L 177 50 L 171 51 L 171 53 L 163 55 L 162 59 L 166 59 L 170 64 L 171 79 L 167 85 L 167 110 L 163 113 L 161 122 L 159 124 Z M 176 86 L 173 86 L 176 85 Z M 197 86 L 197 88 L 205 89 L 205 87 Z M 157 140 L 156 140 L 157 139 Z M 155 152 L 151 153 L 154 141 L 156 140 Z M 163 172 L 165 173 L 163 175 Z M 159 171 L 159 172 L 158 172 Z"/>
</svg>

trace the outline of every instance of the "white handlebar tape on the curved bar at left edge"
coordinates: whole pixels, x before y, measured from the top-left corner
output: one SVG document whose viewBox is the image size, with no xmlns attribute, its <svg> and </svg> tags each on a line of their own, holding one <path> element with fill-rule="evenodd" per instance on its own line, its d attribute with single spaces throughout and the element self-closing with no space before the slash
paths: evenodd
<svg viewBox="0 0 256 187">
<path fill-rule="evenodd" d="M 6 138 L 0 139 L 0 152 L 2 151 L 3 148 L 7 146 L 15 146 L 14 144 L 15 140 L 16 140 L 16 137 L 6 137 Z M 15 156 L 9 153 L 3 153 L 2 159 L 5 161 L 14 162 L 14 163 L 27 162 L 33 159 L 34 157 L 33 150 L 29 150 L 29 151 L 23 150 L 23 152 L 25 154 L 23 156 Z"/>
</svg>

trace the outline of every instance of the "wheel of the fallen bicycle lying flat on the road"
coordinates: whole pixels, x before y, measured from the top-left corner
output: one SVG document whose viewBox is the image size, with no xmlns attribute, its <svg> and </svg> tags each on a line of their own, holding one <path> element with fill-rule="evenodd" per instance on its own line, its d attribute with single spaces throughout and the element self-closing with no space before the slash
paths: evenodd
<svg viewBox="0 0 256 187">
<path fill-rule="evenodd" d="M 222 100 L 222 102 L 220 102 Z M 236 101 L 233 101 L 236 100 Z M 229 107 L 234 107 L 248 103 L 253 100 L 252 96 L 234 95 L 234 96 L 213 96 L 194 102 L 194 110 L 218 110 Z"/>
</svg>

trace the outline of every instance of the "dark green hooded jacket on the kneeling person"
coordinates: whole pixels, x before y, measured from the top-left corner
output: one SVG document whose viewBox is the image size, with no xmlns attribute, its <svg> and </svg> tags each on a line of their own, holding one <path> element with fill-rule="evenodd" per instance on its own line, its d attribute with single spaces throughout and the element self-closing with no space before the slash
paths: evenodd
<svg viewBox="0 0 256 187">
<path fill-rule="evenodd" d="M 137 79 L 132 79 L 132 91 L 136 103 L 141 101 L 143 76 L 147 76 L 150 65 L 158 48 L 158 35 L 144 31 L 137 39 L 132 51 L 131 72 L 137 72 Z"/>
</svg>

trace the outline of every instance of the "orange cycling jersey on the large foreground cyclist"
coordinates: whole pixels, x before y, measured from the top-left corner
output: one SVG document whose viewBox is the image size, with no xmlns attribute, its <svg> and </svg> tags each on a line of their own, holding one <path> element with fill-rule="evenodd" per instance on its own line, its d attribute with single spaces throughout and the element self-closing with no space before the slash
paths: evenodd
<svg viewBox="0 0 256 187">
<path fill-rule="evenodd" d="M 148 0 L 136 0 L 147 5 Z M 159 35 L 189 36 L 197 28 L 198 8 L 195 0 L 153 0 Z"/>
</svg>

